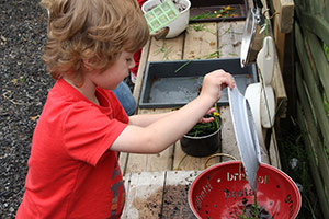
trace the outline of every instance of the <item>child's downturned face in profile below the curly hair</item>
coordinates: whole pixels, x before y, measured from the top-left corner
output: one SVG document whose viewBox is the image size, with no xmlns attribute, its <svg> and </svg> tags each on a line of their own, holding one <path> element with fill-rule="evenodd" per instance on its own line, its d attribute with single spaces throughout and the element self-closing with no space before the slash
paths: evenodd
<svg viewBox="0 0 329 219">
<path fill-rule="evenodd" d="M 104 71 L 92 71 L 86 77 L 99 88 L 113 90 L 128 76 L 128 70 L 133 67 L 135 67 L 134 54 L 123 51 L 118 59 Z"/>
</svg>

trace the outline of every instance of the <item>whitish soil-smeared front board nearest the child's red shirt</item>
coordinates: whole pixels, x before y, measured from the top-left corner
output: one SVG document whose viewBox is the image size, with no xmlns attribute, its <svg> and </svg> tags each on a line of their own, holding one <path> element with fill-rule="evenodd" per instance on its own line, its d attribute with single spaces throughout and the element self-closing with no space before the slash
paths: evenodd
<svg viewBox="0 0 329 219">
<path fill-rule="evenodd" d="M 162 207 L 164 177 L 166 172 L 133 173 L 122 218 L 159 218 Z"/>
</svg>

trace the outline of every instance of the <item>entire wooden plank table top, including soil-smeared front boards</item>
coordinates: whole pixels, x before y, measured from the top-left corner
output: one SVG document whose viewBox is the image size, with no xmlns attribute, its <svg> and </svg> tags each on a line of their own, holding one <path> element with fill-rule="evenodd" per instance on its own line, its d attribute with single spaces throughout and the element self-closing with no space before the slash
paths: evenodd
<svg viewBox="0 0 329 219">
<path fill-rule="evenodd" d="M 159 41 L 150 38 L 143 48 L 134 89 L 137 104 L 148 61 L 205 59 L 215 51 L 219 51 L 215 58 L 237 58 L 240 54 L 243 26 L 245 21 L 191 23 L 178 37 Z M 276 54 L 272 87 L 276 102 L 285 103 L 286 93 Z M 139 108 L 137 105 L 137 114 L 168 111 L 172 108 Z M 219 112 L 223 129 L 222 151 L 218 152 L 240 160 L 229 106 L 220 106 Z M 275 131 L 270 142 L 261 146 L 262 162 L 281 168 L 274 137 Z M 206 160 L 207 158 L 186 155 L 179 141 L 159 154 L 121 153 L 120 164 L 127 192 L 122 218 L 195 218 L 188 204 L 188 191 L 193 180 L 205 169 Z M 228 160 L 231 159 L 216 157 L 207 164 Z"/>
</svg>

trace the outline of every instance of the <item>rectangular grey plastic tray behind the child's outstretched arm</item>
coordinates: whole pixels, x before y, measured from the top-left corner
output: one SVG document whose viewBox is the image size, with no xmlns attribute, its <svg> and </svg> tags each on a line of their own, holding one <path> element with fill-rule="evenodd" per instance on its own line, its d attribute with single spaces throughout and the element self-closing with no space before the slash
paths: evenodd
<svg viewBox="0 0 329 219">
<path fill-rule="evenodd" d="M 139 107 L 185 105 L 197 96 L 203 77 L 216 69 L 230 72 L 242 94 L 250 83 L 258 81 L 256 66 L 251 65 L 242 69 L 239 58 L 193 60 L 185 65 L 186 62 L 188 60 L 148 62 L 141 84 Z M 185 66 L 175 72 L 183 65 Z M 223 90 L 218 104 L 228 105 L 227 89 Z"/>
</svg>

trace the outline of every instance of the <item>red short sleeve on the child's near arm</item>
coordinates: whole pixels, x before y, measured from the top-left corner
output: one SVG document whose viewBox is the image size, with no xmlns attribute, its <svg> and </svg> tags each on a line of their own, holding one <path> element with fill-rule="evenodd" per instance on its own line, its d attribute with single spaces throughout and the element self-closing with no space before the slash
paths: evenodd
<svg viewBox="0 0 329 219">
<path fill-rule="evenodd" d="M 63 126 L 64 145 L 68 154 L 76 160 L 97 165 L 127 126 L 126 123 L 111 117 L 95 106 L 72 106 Z"/>
</svg>

